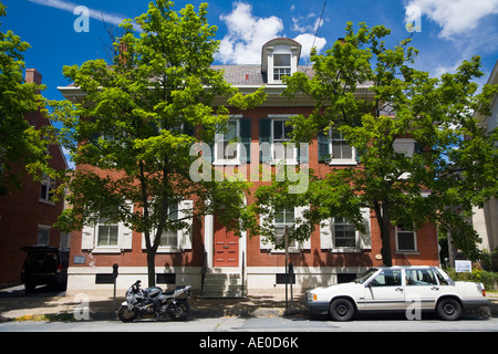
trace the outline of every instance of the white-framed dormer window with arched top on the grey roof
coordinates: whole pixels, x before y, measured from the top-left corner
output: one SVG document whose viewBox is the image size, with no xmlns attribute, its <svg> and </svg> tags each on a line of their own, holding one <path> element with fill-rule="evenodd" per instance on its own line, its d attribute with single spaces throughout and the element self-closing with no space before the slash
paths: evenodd
<svg viewBox="0 0 498 354">
<path fill-rule="evenodd" d="M 267 74 L 268 84 L 282 84 L 283 76 L 298 71 L 301 44 L 287 38 L 269 41 L 262 48 L 261 71 Z"/>
</svg>

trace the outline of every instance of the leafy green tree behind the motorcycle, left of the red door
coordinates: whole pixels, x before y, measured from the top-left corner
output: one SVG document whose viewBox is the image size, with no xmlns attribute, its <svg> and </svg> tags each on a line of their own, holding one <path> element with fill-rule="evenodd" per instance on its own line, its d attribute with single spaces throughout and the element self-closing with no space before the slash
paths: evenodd
<svg viewBox="0 0 498 354">
<path fill-rule="evenodd" d="M 230 97 L 245 108 L 266 97 L 262 91 L 242 96 L 210 67 L 219 42 L 216 27 L 207 23 L 207 4 L 198 12 L 193 6 L 173 8 L 169 1 L 151 2 L 136 18 L 139 33 L 125 20 L 112 64 L 64 66 L 84 97 L 53 103 L 54 117 L 64 125 L 61 139 L 77 165 L 68 183 L 71 209 L 60 223 L 80 229 L 113 217 L 143 232 L 149 285 L 163 231 L 184 229 L 187 219 L 221 207 L 220 220 L 238 230 L 231 221 L 243 210 L 248 184 L 217 181 L 210 162 L 207 170 L 193 170 L 206 166 L 196 165 L 203 160 L 195 144 L 212 142 L 229 119 L 225 106 L 212 108 L 215 97 Z M 199 147 L 210 153 L 207 145 Z M 185 199 L 195 202 L 179 216 L 174 206 Z"/>
</svg>

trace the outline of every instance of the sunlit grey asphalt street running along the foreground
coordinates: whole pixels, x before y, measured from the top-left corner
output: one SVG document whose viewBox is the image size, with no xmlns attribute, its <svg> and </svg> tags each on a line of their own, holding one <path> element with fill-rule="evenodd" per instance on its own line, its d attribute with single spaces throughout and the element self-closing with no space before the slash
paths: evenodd
<svg viewBox="0 0 498 354">
<path fill-rule="evenodd" d="M 403 316 L 369 315 L 351 322 L 301 316 L 209 317 L 186 322 L 170 320 L 121 321 L 24 321 L 0 323 L 0 332 L 498 332 L 498 317 L 464 319 L 455 322 L 436 317 L 408 321 Z"/>
</svg>

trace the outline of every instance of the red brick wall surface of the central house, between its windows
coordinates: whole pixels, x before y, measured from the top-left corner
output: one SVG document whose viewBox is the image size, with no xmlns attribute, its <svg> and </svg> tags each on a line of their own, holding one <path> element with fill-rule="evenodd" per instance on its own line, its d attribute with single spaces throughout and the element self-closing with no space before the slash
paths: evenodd
<svg viewBox="0 0 498 354">
<path fill-rule="evenodd" d="M 279 107 L 258 107 L 247 112 L 234 111 L 232 114 L 242 114 L 246 118 L 251 118 L 251 135 L 252 149 L 251 162 L 256 163 L 259 159 L 259 119 L 268 117 L 271 114 L 304 114 L 308 115 L 312 111 L 311 107 L 298 106 L 279 106 Z M 309 166 L 315 170 L 317 174 L 323 176 L 331 170 L 331 166 L 318 162 L 318 145 L 314 140 L 309 148 Z M 336 167 L 341 168 L 341 167 Z M 250 169 L 247 168 L 248 180 Z M 262 181 L 253 181 L 253 190 Z M 253 191 L 252 190 L 252 191 Z M 251 194 L 253 195 L 253 192 Z M 248 204 L 253 202 L 253 197 L 249 196 Z M 382 260 L 375 258 L 381 254 L 381 239 L 380 230 L 376 220 L 371 219 L 371 235 L 372 235 L 372 250 L 359 253 L 331 253 L 330 251 L 321 251 L 320 249 L 320 230 L 317 229 L 311 236 L 311 250 L 305 250 L 300 253 L 292 253 L 291 261 L 297 267 L 371 267 L 382 266 Z M 193 250 L 184 253 L 160 254 L 156 256 L 156 267 L 168 266 L 193 266 L 200 267 L 204 260 L 204 220 L 196 219 L 194 222 L 194 238 Z M 113 263 L 118 263 L 120 267 L 145 267 L 146 253 L 142 250 L 142 235 L 134 232 L 133 235 L 133 250 L 124 251 L 120 254 L 90 254 L 81 250 L 81 231 L 74 231 L 71 237 L 71 252 L 72 256 L 85 256 L 85 266 L 95 267 L 112 267 Z M 395 253 L 395 238 L 394 229 L 392 230 L 392 250 L 394 264 L 438 264 L 438 247 L 437 237 L 434 226 L 426 226 L 417 231 L 417 248 L 418 252 L 413 254 L 397 254 Z M 260 250 L 259 237 L 247 240 L 247 266 L 248 267 L 281 267 L 284 264 L 284 254 L 274 254 L 268 251 Z M 71 257 L 73 262 L 73 257 Z M 73 266 L 73 264 L 72 264 Z"/>
</svg>

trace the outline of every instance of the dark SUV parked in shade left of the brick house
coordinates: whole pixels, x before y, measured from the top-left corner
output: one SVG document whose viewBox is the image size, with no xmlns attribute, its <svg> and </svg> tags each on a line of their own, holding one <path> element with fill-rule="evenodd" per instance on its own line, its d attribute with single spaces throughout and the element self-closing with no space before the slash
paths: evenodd
<svg viewBox="0 0 498 354">
<path fill-rule="evenodd" d="M 28 252 L 21 272 L 25 291 L 33 291 L 37 285 L 49 284 L 59 291 L 68 285 L 69 249 L 48 246 L 21 248 Z"/>
</svg>

